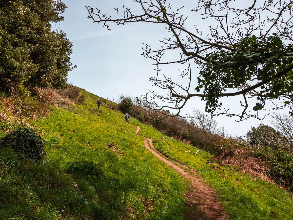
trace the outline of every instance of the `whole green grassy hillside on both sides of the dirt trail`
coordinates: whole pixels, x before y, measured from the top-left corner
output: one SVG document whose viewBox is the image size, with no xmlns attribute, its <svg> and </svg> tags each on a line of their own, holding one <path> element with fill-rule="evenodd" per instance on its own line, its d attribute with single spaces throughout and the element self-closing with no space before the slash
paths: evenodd
<svg viewBox="0 0 293 220">
<path fill-rule="evenodd" d="M 0 219 L 184 219 L 188 183 L 145 149 L 135 125 L 170 160 L 197 170 L 231 219 L 293 219 L 292 196 L 276 185 L 206 165 L 212 155 L 205 151 L 195 156 L 196 147 L 136 119 L 127 124 L 105 105 L 98 111 L 97 96 L 84 90 L 80 95 L 85 105 L 51 107 L 50 117 L 30 121 L 47 141 L 45 163 L 0 149 Z M 93 169 L 99 175 L 91 175 Z"/>
</svg>

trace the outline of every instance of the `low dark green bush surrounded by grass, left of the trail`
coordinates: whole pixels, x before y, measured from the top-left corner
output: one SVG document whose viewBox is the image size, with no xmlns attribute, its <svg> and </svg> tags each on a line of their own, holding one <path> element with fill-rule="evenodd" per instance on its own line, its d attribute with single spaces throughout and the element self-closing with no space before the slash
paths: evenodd
<svg viewBox="0 0 293 220">
<path fill-rule="evenodd" d="M 98 164 L 86 160 L 67 162 L 67 172 L 79 175 L 88 175 L 91 177 L 100 177 L 103 175 L 103 172 Z"/>
</svg>

